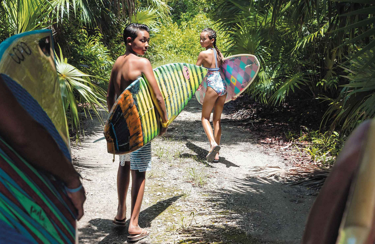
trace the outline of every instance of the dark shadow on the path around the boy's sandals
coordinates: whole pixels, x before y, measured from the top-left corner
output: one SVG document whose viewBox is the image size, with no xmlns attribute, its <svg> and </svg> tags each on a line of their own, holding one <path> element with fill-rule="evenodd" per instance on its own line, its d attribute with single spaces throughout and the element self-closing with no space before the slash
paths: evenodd
<svg viewBox="0 0 375 244">
<path fill-rule="evenodd" d="M 154 220 L 159 214 L 161 214 L 166 208 L 177 201 L 181 195 L 174 196 L 163 201 L 159 201 L 154 205 L 141 211 L 139 214 L 139 226 L 142 228 L 150 227 L 151 221 Z M 115 214 L 115 213 L 114 213 Z M 117 227 L 112 223 L 112 219 L 101 219 L 96 218 L 89 221 L 89 224 L 80 228 L 79 231 L 83 232 L 80 235 L 80 243 L 93 243 L 99 241 L 101 237 L 104 237 L 98 243 L 101 244 L 112 244 L 112 243 L 124 243 L 127 236 L 127 227 L 129 226 L 129 219 L 126 220 L 126 227 Z"/>
</svg>

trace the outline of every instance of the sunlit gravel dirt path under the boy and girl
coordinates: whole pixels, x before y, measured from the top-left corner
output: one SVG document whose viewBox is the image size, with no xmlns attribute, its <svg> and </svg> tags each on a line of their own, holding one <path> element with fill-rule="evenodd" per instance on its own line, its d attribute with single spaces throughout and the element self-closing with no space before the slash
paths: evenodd
<svg viewBox="0 0 375 244">
<path fill-rule="evenodd" d="M 300 243 L 315 191 L 257 178 L 255 166 L 285 168 L 288 162 L 234 123 L 222 123 L 220 162 L 207 164 L 200 113 L 192 99 L 167 135 L 153 141 L 140 214 L 140 226 L 151 234 L 138 243 Z M 103 127 L 90 123 L 82 145 L 72 149 L 87 191 L 80 243 L 126 243 L 127 229 L 112 224 L 118 156 L 112 163 L 105 141 L 92 143 Z M 130 189 L 128 196 L 130 206 Z"/>
</svg>

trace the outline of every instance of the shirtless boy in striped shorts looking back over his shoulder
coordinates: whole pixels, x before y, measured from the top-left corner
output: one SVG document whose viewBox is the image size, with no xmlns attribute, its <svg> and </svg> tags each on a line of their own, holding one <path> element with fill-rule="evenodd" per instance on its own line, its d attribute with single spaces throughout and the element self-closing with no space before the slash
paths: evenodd
<svg viewBox="0 0 375 244">
<path fill-rule="evenodd" d="M 148 49 L 150 29 L 144 24 L 130 24 L 124 29 L 123 38 L 126 44 L 126 52 L 115 61 L 110 83 L 107 91 L 108 111 L 115 103 L 115 98 L 142 74 L 148 80 L 150 92 L 155 98 L 154 103 L 159 107 L 159 115 L 162 120 L 160 135 L 167 129 L 168 117 L 165 103 L 147 58 L 138 57 L 144 55 Z M 128 241 L 137 241 L 147 237 L 150 232 L 138 225 L 139 211 L 144 194 L 146 171 L 151 170 L 151 143 L 146 144 L 135 152 L 120 155 L 120 165 L 117 171 L 117 214 L 113 223 L 117 226 L 125 226 L 126 221 L 126 193 L 129 188 L 130 172 L 132 173 L 132 209 L 129 223 Z"/>
</svg>

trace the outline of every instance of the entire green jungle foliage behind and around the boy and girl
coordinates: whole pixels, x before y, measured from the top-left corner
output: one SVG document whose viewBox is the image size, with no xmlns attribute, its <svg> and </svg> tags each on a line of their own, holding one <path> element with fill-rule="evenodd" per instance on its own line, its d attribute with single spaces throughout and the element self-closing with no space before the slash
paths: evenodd
<svg viewBox="0 0 375 244">
<path fill-rule="evenodd" d="M 199 32 L 205 27 L 219 29 L 218 46 L 225 55 L 255 54 L 262 63 L 248 94 L 270 106 L 290 97 L 320 101 L 317 109 L 326 112 L 322 125 L 346 132 L 375 113 L 374 3 L 4 0 L 0 41 L 23 31 L 50 28 L 55 48 L 61 47 L 61 54 L 55 50 L 60 62 L 69 62 L 80 78 L 75 80 L 95 94 L 81 97 L 72 87 L 66 91 L 71 94 L 63 94 L 66 101 L 73 104 L 75 99 L 75 104 L 90 107 L 105 101 L 112 64 L 125 51 L 122 31 L 130 22 L 151 27 L 145 57 L 155 67 L 168 62 L 195 63 L 201 51 Z M 88 77 L 92 86 L 87 85 Z M 71 104 L 66 106 L 69 124 L 78 131 L 84 106 L 76 107 L 77 112 Z"/>
</svg>

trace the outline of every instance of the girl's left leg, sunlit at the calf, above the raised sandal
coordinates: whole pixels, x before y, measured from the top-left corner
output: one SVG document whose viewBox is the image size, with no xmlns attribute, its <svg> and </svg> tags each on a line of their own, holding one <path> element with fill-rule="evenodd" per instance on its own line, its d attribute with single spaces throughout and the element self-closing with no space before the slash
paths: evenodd
<svg viewBox="0 0 375 244">
<path fill-rule="evenodd" d="M 210 141 L 211 148 L 217 146 L 210 124 L 211 111 L 213 109 L 217 97 L 219 97 L 217 92 L 214 91 L 214 89 L 212 89 L 211 87 L 207 87 L 207 91 L 204 96 L 202 106 L 202 125 L 204 132 L 206 132 L 207 138 Z"/>
</svg>

